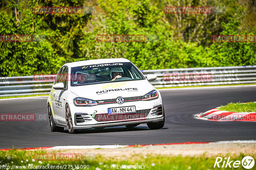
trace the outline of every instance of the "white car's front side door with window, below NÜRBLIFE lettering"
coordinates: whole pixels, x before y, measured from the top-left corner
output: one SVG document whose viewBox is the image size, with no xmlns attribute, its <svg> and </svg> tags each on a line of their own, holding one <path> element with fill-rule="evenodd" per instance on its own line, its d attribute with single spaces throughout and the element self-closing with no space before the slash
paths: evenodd
<svg viewBox="0 0 256 170">
<path fill-rule="evenodd" d="M 58 77 L 57 83 L 63 82 L 64 88 L 68 89 L 68 67 L 64 66 L 63 71 Z M 65 100 L 67 98 L 67 90 L 55 90 L 54 92 L 54 111 L 57 121 L 66 124 L 65 118 Z"/>
</svg>

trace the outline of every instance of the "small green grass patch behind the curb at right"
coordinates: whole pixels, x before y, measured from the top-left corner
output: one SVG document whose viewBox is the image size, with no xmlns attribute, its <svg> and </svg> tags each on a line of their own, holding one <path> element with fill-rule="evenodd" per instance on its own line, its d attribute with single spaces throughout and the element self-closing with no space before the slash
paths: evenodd
<svg viewBox="0 0 256 170">
<path fill-rule="evenodd" d="M 228 103 L 226 106 L 221 106 L 219 110 L 232 112 L 256 112 L 256 103 Z"/>
</svg>

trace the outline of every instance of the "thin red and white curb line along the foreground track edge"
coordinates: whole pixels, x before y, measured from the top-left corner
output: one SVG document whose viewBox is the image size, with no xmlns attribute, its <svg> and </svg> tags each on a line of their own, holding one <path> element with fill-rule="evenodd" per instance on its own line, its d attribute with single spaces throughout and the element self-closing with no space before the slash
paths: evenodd
<svg viewBox="0 0 256 170">
<path fill-rule="evenodd" d="M 160 146 L 160 145 L 184 145 L 184 144 L 238 144 L 247 143 L 254 144 L 256 140 L 231 140 L 231 141 L 217 141 L 217 142 L 183 142 L 183 143 L 167 143 L 167 144 L 147 144 L 147 145 L 85 145 L 85 146 L 50 146 L 50 147 L 35 147 L 35 148 L 20 148 L 17 150 L 60 150 L 60 149 L 116 149 L 128 147 L 144 147 L 144 146 Z M 8 151 L 12 149 L 0 149 L 0 151 Z"/>
</svg>

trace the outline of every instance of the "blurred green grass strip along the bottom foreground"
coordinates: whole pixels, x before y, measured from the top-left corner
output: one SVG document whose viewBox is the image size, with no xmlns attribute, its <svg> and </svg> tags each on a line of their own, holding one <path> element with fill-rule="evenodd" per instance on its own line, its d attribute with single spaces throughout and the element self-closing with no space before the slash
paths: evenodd
<svg viewBox="0 0 256 170">
<path fill-rule="evenodd" d="M 213 168 L 216 157 L 206 157 L 204 154 L 196 157 L 182 157 L 182 156 L 163 156 L 163 155 L 138 155 L 135 154 L 132 157 L 126 158 L 111 158 L 111 157 L 103 157 L 97 155 L 93 160 L 80 160 L 80 161 L 33 161 L 33 155 L 38 153 L 46 153 L 42 150 L 37 151 L 24 151 L 24 150 L 10 150 L 10 151 L 0 151 L 0 165 L 16 165 L 16 166 L 27 166 L 33 164 L 33 166 L 60 166 L 60 165 L 89 165 L 89 169 L 97 170 L 100 169 L 111 169 L 111 165 L 140 165 L 143 167 L 145 165 L 145 169 L 147 170 L 212 170 L 212 169 L 220 169 L 218 167 Z M 240 160 L 244 158 L 242 153 L 239 156 L 232 156 L 230 153 L 227 155 L 218 155 L 218 157 L 228 157 L 230 156 L 230 160 Z M 254 159 L 256 158 L 256 154 L 250 155 Z M 224 159 L 223 159 L 224 160 Z M 223 161 L 221 162 L 223 163 Z M 222 164 L 221 164 L 222 165 Z M 231 165 L 232 166 L 232 165 Z M 16 168 L 17 169 L 17 168 Z M 19 168 L 24 169 L 24 168 Z M 60 168 L 55 168 L 60 169 Z M 71 169 L 71 168 L 69 168 Z M 114 169 L 112 167 L 112 169 Z M 133 169 L 133 168 L 132 168 Z M 221 168 L 221 169 L 232 169 L 232 170 L 240 170 L 244 169 L 242 165 L 238 168 Z"/>
</svg>

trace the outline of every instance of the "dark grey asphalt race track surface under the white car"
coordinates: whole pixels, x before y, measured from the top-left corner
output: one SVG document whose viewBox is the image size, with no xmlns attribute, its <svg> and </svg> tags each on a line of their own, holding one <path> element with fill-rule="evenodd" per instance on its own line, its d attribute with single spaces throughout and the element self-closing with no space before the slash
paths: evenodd
<svg viewBox="0 0 256 170">
<path fill-rule="evenodd" d="M 175 89 L 160 91 L 165 109 L 165 125 L 149 130 L 146 124 L 78 134 L 51 132 L 48 120 L 0 121 L 0 148 L 27 148 L 61 145 L 136 145 L 180 142 L 211 142 L 256 139 L 256 122 L 213 122 L 193 118 L 229 102 L 256 101 L 256 87 L 210 89 Z M 34 113 L 47 115 L 46 98 L 0 100 L 1 113 Z"/>
</svg>

